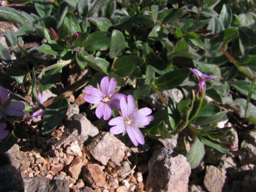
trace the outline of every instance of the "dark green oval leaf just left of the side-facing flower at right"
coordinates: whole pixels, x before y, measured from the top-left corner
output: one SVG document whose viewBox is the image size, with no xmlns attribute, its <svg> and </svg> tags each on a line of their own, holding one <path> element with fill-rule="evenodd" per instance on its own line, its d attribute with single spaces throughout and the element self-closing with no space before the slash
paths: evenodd
<svg viewBox="0 0 256 192">
<path fill-rule="evenodd" d="M 190 69 L 182 68 L 160 75 L 155 85 L 160 89 L 173 89 L 178 87 L 189 76 Z"/>
</svg>

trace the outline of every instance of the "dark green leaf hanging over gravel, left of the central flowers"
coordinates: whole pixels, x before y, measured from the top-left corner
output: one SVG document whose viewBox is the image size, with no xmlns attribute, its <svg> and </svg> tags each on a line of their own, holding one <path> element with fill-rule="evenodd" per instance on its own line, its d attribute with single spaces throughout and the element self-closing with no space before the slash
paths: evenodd
<svg viewBox="0 0 256 192">
<path fill-rule="evenodd" d="M 44 112 L 43 135 L 49 135 L 62 122 L 68 111 L 68 100 L 63 97 L 47 106 Z"/>
</svg>

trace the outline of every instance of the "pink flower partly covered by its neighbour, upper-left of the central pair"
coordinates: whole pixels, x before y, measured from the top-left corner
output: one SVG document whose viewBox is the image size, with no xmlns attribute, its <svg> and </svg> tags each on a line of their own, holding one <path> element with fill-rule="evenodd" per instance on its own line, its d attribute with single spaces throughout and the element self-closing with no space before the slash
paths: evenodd
<svg viewBox="0 0 256 192">
<path fill-rule="evenodd" d="M 100 81 L 100 90 L 94 87 L 86 89 L 89 95 L 84 95 L 84 100 L 98 105 L 95 114 L 99 119 L 103 116 L 104 120 L 108 120 L 112 114 L 111 107 L 120 109 L 120 98 L 126 96 L 120 93 L 114 94 L 116 86 L 116 79 L 112 77 L 108 81 L 108 76 L 106 76 Z"/>
</svg>

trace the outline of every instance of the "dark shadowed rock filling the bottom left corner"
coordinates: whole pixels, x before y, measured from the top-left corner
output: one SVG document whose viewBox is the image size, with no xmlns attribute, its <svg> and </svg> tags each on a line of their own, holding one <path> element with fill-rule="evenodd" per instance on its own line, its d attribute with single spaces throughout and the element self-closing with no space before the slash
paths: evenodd
<svg viewBox="0 0 256 192">
<path fill-rule="evenodd" d="M 27 183 L 20 172 L 12 165 L 0 167 L 0 191 L 23 192 L 27 190 Z"/>
</svg>

